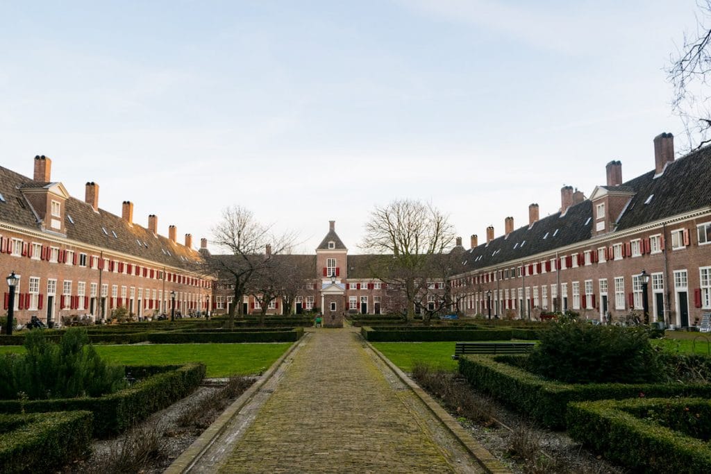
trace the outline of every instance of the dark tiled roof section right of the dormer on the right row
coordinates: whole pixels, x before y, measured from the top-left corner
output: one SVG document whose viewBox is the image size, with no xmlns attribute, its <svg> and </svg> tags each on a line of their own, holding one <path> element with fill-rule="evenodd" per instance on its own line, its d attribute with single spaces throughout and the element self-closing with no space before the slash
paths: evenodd
<svg viewBox="0 0 711 474">
<path fill-rule="evenodd" d="M 711 205 L 711 147 L 668 163 L 658 178 L 652 170 L 622 186 L 636 195 L 619 218 L 618 231 Z"/>
</svg>

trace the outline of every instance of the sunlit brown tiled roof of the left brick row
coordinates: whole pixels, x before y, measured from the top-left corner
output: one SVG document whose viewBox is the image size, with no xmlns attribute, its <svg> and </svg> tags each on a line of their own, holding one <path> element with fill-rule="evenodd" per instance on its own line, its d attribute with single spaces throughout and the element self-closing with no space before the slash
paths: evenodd
<svg viewBox="0 0 711 474">
<path fill-rule="evenodd" d="M 0 220 L 39 231 L 40 225 L 21 189 L 43 188 L 48 184 L 32 181 L 26 176 L 0 167 L 0 193 L 5 200 L 0 201 Z M 196 261 L 202 260 L 201 254 L 196 250 L 188 249 L 161 235 L 156 237 L 153 232 L 135 222 L 129 225 L 122 217 L 105 210 L 94 212 L 91 205 L 82 200 L 68 198 L 64 218 L 67 238 L 77 242 L 178 268 L 189 268 Z"/>
</svg>

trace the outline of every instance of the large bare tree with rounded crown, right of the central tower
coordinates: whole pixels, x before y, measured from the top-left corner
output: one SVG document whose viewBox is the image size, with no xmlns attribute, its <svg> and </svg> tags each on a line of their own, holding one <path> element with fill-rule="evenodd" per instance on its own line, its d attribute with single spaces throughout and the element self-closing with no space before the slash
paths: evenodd
<svg viewBox="0 0 711 474">
<path fill-rule="evenodd" d="M 370 213 L 361 247 L 379 254 L 371 271 L 388 289 L 402 291 L 409 321 L 415 308 L 427 307 L 429 286 L 440 278 L 433 260 L 453 241 L 454 230 L 447 216 L 431 203 L 395 200 Z"/>
</svg>

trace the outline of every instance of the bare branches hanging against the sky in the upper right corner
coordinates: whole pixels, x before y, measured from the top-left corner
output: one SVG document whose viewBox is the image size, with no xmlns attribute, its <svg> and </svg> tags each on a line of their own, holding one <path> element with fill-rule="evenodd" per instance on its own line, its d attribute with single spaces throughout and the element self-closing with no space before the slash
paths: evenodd
<svg viewBox="0 0 711 474">
<path fill-rule="evenodd" d="M 711 142 L 711 0 L 697 2 L 696 31 L 684 33 L 683 45 L 667 69 L 674 87 L 672 110 L 685 129 L 688 150 Z"/>
</svg>

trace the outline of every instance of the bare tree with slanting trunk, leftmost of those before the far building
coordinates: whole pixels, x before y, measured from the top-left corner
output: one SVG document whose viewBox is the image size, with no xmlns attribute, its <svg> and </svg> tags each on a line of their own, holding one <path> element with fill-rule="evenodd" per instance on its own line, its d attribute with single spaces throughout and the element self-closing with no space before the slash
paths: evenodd
<svg viewBox="0 0 711 474">
<path fill-rule="evenodd" d="M 234 291 L 229 328 L 235 324 L 235 308 L 242 313 L 242 298 L 250 293 L 252 280 L 273 266 L 274 255 L 288 252 L 294 244 L 294 235 L 271 231 L 271 225 L 262 225 L 250 210 L 237 205 L 225 208 L 222 220 L 213 227 L 215 244 L 228 252 L 211 257 L 208 264 Z"/>
</svg>

